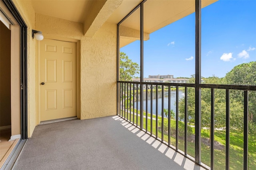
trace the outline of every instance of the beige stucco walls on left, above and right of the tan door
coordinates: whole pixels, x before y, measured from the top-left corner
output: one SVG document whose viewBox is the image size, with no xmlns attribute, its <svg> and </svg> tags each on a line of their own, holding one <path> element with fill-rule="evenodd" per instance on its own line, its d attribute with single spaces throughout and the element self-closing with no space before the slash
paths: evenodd
<svg viewBox="0 0 256 170">
<path fill-rule="evenodd" d="M 28 137 L 36 127 L 36 40 L 32 29 L 59 40 L 80 44 L 80 119 L 116 115 L 116 24 L 106 22 L 92 38 L 83 35 L 83 25 L 36 14 L 30 1 L 14 0 L 28 26 Z"/>
</svg>

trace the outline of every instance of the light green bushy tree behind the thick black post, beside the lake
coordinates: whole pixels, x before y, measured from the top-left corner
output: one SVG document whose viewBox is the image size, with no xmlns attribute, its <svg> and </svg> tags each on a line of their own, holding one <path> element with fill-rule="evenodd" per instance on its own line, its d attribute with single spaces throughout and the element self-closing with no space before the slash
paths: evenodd
<svg viewBox="0 0 256 170">
<path fill-rule="evenodd" d="M 194 81 L 192 77 L 190 82 Z M 206 84 L 222 84 L 225 79 L 218 77 L 204 78 Z M 188 122 L 194 123 L 195 120 L 195 89 L 188 88 Z M 226 93 L 224 89 L 214 91 L 214 127 L 226 127 Z M 184 98 L 180 99 L 180 105 L 184 105 Z M 235 128 L 242 128 L 243 108 L 242 103 L 230 98 L 230 125 Z M 184 119 L 184 107 L 179 108 L 181 119 Z M 210 129 L 211 125 L 211 89 L 201 89 L 201 126 Z M 211 136 L 210 136 L 211 138 Z M 210 139 L 209 139 L 210 141 Z"/>
</svg>

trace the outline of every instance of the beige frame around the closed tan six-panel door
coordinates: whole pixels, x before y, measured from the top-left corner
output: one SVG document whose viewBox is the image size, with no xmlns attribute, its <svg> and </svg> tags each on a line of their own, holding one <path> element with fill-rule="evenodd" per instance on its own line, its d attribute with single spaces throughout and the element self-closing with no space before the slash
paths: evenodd
<svg viewBox="0 0 256 170">
<path fill-rule="evenodd" d="M 76 116 L 78 119 L 81 117 L 81 104 L 80 104 L 80 49 L 81 42 L 80 40 L 72 39 L 72 38 L 60 38 L 56 36 L 48 36 L 45 35 L 44 38 L 50 40 L 57 40 L 62 42 L 72 42 L 76 43 Z M 36 43 L 36 125 L 40 124 L 40 55 L 39 55 L 39 41 Z"/>
</svg>

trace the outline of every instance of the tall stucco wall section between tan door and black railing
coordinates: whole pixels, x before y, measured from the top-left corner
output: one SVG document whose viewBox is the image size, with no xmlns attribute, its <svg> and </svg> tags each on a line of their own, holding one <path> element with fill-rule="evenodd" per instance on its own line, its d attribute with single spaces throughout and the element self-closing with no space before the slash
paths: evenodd
<svg viewBox="0 0 256 170">
<path fill-rule="evenodd" d="M 81 40 L 81 119 L 116 115 L 116 24 Z"/>
</svg>

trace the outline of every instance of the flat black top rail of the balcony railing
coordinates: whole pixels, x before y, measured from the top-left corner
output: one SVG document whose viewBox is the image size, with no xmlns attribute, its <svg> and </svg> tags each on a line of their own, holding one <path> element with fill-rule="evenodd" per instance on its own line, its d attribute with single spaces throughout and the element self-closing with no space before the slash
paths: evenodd
<svg viewBox="0 0 256 170">
<path fill-rule="evenodd" d="M 133 83 L 142 85 L 164 85 L 164 86 L 179 86 L 179 87 L 196 87 L 192 83 L 160 83 L 160 82 L 138 82 L 138 81 L 117 81 L 118 83 Z M 256 85 L 222 85 L 222 84 L 199 84 L 200 88 L 210 89 L 230 89 L 230 90 L 248 90 L 256 91 Z"/>
</svg>

